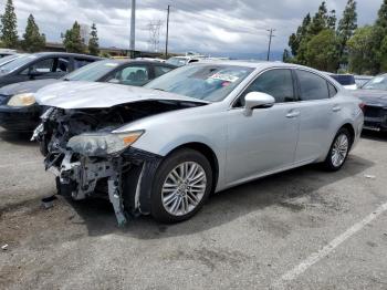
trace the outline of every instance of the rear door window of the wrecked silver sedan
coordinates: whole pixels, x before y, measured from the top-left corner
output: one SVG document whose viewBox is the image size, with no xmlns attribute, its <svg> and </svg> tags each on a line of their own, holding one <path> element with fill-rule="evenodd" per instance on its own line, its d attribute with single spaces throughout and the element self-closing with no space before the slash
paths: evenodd
<svg viewBox="0 0 387 290">
<path fill-rule="evenodd" d="M 330 99 L 328 83 L 317 74 L 296 70 L 300 82 L 301 101 Z"/>
</svg>

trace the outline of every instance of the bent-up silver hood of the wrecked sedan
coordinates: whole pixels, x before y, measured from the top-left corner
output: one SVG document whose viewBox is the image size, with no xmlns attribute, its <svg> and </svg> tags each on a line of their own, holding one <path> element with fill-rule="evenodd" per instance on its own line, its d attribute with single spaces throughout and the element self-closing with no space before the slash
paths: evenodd
<svg viewBox="0 0 387 290">
<path fill-rule="evenodd" d="M 208 103 L 156 90 L 93 82 L 60 82 L 48 85 L 36 92 L 35 99 L 40 105 L 61 108 L 112 107 L 148 100 Z"/>
</svg>

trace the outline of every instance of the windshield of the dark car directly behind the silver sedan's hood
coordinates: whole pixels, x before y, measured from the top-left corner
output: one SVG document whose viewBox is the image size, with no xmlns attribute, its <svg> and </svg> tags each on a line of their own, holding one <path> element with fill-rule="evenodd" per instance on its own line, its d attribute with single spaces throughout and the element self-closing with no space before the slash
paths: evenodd
<svg viewBox="0 0 387 290">
<path fill-rule="evenodd" d="M 96 82 L 118 65 L 118 62 L 114 62 L 112 60 L 93 62 L 67 74 L 63 80 Z"/>
</svg>

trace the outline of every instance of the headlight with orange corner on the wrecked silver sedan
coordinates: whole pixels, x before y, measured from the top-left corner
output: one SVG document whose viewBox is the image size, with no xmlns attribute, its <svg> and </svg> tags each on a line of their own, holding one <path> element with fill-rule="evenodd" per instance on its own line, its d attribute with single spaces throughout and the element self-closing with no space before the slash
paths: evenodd
<svg viewBox="0 0 387 290">
<path fill-rule="evenodd" d="M 135 143 L 144 131 L 128 133 L 85 133 L 72 137 L 67 147 L 85 156 L 105 156 L 119 153 Z"/>
</svg>

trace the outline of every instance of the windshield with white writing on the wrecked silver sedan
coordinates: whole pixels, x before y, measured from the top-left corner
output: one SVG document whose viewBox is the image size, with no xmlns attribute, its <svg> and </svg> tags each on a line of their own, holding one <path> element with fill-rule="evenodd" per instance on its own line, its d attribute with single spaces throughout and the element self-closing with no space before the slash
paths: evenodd
<svg viewBox="0 0 387 290">
<path fill-rule="evenodd" d="M 145 87 L 218 102 L 226 99 L 252 71 L 236 65 L 187 65 L 154 80 Z"/>
</svg>

